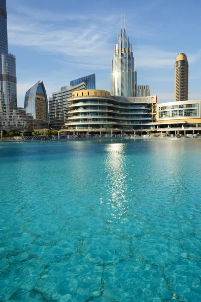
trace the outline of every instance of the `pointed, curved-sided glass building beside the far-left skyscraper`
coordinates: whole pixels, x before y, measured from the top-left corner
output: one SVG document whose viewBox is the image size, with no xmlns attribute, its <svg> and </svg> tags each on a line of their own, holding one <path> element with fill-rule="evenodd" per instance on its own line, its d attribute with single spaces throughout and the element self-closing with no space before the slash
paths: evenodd
<svg viewBox="0 0 201 302">
<path fill-rule="evenodd" d="M 26 113 L 34 115 L 34 129 L 48 128 L 48 100 L 43 81 L 37 82 L 25 95 Z"/>
</svg>

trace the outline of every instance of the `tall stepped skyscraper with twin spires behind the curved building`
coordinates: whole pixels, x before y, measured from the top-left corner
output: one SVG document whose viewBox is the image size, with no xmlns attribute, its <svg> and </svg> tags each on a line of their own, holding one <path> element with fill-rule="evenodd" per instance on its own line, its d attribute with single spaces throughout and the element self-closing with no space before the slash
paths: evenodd
<svg viewBox="0 0 201 302">
<path fill-rule="evenodd" d="M 115 55 L 112 60 L 111 95 L 135 97 L 136 83 L 135 57 L 132 52 L 132 44 L 129 42 L 129 37 L 126 36 L 124 16 L 124 29 L 121 17 L 121 35 L 117 37 Z"/>
</svg>

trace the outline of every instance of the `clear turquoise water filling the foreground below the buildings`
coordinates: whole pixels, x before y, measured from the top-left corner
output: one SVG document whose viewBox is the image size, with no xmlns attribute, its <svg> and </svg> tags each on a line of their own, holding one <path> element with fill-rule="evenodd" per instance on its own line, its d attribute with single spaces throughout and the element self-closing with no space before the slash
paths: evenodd
<svg viewBox="0 0 201 302">
<path fill-rule="evenodd" d="M 0 144 L 0 300 L 200 302 L 201 140 Z"/>
</svg>

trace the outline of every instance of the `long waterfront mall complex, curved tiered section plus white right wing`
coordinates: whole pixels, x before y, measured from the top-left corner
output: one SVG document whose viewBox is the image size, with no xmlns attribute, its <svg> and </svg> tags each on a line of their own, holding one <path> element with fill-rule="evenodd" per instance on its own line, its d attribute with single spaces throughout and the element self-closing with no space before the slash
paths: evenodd
<svg viewBox="0 0 201 302">
<path fill-rule="evenodd" d="M 104 90 L 74 91 L 63 132 L 69 134 L 201 134 L 201 100 L 157 104 L 157 96 L 112 97 Z M 61 131 L 61 132 L 62 132 Z"/>
</svg>

